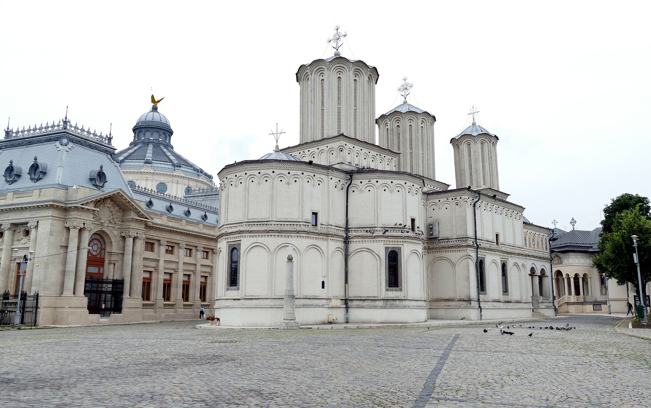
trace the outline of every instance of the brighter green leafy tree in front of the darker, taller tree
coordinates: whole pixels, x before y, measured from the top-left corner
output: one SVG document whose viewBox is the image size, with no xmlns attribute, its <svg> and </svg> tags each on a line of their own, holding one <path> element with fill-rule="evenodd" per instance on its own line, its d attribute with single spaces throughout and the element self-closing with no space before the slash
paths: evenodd
<svg viewBox="0 0 651 408">
<path fill-rule="evenodd" d="M 599 254 L 592 263 L 600 273 L 617 280 L 618 285 L 626 282 L 637 284 L 637 267 L 633 262 L 633 239 L 637 235 L 637 252 L 639 254 L 640 273 L 644 295 L 644 285 L 651 274 L 651 220 L 641 210 L 642 204 L 633 210 L 616 213 L 613 219 L 613 231 L 602 232 L 599 237 Z"/>
</svg>

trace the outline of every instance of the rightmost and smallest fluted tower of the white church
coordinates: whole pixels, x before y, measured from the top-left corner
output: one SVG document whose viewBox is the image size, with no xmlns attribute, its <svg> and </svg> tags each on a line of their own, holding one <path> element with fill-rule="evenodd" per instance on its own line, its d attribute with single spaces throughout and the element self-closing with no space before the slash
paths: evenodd
<svg viewBox="0 0 651 408">
<path fill-rule="evenodd" d="M 454 148 L 456 188 L 470 186 L 499 191 L 497 141 L 499 138 L 479 126 L 474 117 L 471 126 L 450 139 Z"/>
</svg>

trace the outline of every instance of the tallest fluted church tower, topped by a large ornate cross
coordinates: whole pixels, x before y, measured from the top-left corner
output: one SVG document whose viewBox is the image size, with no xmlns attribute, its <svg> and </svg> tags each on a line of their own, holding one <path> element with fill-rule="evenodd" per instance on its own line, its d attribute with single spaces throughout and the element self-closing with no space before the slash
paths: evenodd
<svg viewBox="0 0 651 408">
<path fill-rule="evenodd" d="M 375 85 L 378 70 L 363 61 L 341 56 L 339 33 L 335 55 L 301 65 L 296 81 L 301 87 L 301 143 L 343 133 L 348 137 L 375 143 Z"/>
</svg>

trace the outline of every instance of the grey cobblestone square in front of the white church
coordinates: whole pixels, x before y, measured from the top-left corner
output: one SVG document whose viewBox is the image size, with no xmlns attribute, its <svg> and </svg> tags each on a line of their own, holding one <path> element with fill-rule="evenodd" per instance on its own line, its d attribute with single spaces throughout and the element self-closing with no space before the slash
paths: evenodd
<svg viewBox="0 0 651 408">
<path fill-rule="evenodd" d="M 615 333 L 619 321 L 518 322 L 523 327 L 511 328 L 513 336 L 488 323 L 279 331 L 177 322 L 1 331 L 0 405 L 650 407 L 651 342 Z M 576 329 L 526 328 L 564 323 Z"/>
</svg>

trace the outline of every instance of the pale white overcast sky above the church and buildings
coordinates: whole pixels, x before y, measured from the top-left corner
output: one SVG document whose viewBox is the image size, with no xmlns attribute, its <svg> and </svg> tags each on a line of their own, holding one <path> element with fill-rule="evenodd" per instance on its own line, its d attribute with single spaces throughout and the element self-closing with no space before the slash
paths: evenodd
<svg viewBox="0 0 651 408">
<path fill-rule="evenodd" d="M 622 193 L 651 195 L 649 1 L 3 1 L 0 124 L 61 119 L 121 150 L 165 97 L 174 150 L 213 174 L 299 141 L 301 64 L 376 66 L 376 117 L 402 102 L 436 116 L 436 179 L 456 187 L 450 139 L 499 137 L 500 187 L 533 223 L 599 226 Z M 3 119 L 4 118 L 4 119 Z"/>
</svg>

